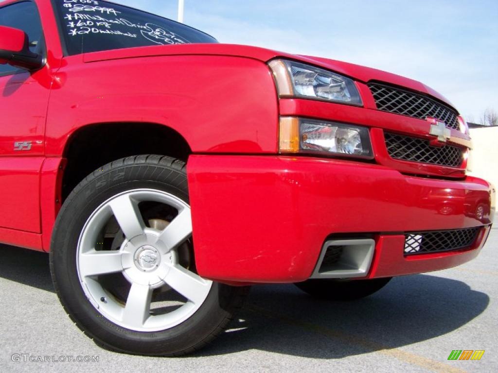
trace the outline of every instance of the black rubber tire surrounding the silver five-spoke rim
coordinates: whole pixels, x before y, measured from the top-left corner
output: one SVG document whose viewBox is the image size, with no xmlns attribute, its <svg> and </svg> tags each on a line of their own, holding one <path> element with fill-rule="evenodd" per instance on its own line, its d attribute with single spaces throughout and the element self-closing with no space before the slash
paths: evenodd
<svg viewBox="0 0 498 373">
<path fill-rule="evenodd" d="M 189 202 L 185 163 L 169 157 L 142 155 L 112 162 L 89 175 L 68 196 L 52 234 L 50 270 L 65 311 L 98 345 L 116 352 L 180 356 L 192 353 L 220 334 L 242 307 L 249 287 L 213 282 L 200 308 L 169 329 L 143 332 L 103 317 L 83 291 L 77 269 L 82 229 L 103 201 L 137 188 L 170 193 Z"/>
</svg>

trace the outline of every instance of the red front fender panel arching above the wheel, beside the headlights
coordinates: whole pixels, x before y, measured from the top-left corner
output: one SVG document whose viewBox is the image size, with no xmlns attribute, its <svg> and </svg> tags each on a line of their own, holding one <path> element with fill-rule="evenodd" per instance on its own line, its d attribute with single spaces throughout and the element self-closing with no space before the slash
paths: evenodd
<svg viewBox="0 0 498 373">
<path fill-rule="evenodd" d="M 64 59 L 55 75 L 60 84 L 48 107 L 48 156 L 60 156 L 79 128 L 111 122 L 166 125 L 194 152 L 276 152 L 276 89 L 260 61 L 157 56 L 83 63 L 82 58 Z"/>
</svg>

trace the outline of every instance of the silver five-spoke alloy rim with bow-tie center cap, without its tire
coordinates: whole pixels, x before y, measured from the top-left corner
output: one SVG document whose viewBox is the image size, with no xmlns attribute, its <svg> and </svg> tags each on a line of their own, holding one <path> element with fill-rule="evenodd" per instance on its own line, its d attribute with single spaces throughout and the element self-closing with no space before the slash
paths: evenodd
<svg viewBox="0 0 498 373">
<path fill-rule="evenodd" d="M 141 204 L 164 206 L 176 215 L 159 230 L 144 221 Z M 116 225 L 119 230 L 111 238 L 116 242 L 121 235 L 122 243 L 106 247 L 102 237 Z M 103 316 L 126 329 L 150 332 L 180 324 L 202 305 L 212 286 L 180 264 L 179 249 L 191 234 L 189 205 L 170 193 L 135 189 L 113 196 L 89 217 L 79 239 L 77 268 L 86 296 Z M 102 281 L 111 274 L 129 282 L 126 299 Z M 176 301 L 170 312 L 153 312 L 154 290 L 161 288 L 179 294 L 183 304 Z"/>
</svg>

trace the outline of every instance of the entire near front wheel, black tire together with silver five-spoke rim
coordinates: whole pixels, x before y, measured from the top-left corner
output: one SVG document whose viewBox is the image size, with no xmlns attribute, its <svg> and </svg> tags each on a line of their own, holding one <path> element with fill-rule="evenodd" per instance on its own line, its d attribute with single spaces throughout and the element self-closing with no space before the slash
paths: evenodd
<svg viewBox="0 0 498 373">
<path fill-rule="evenodd" d="M 50 270 L 64 309 L 99 346 L 179 356 L 222 333 L 249 290 L 202 278 L 194 253 L 185 163 L 132 156 L 64 199 Z"/>
</svg>

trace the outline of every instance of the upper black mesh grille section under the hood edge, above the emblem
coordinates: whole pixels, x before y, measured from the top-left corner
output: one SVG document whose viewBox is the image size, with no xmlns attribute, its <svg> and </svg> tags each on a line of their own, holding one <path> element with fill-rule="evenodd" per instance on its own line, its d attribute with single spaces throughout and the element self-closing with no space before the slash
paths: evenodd
<svg viewBox="0 0 498 373">
<path fill-rule="evenodd" d="M 446 127 L 454 129 L 459 127 L 458 113 L 429 96 L 377 83 L 370 83 L 368 86 L 372 91 L 378 110 L 419 119 L 425 119 L 429 116 L 445 122 Z"/>
</svg>

